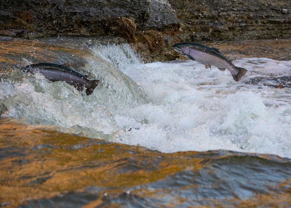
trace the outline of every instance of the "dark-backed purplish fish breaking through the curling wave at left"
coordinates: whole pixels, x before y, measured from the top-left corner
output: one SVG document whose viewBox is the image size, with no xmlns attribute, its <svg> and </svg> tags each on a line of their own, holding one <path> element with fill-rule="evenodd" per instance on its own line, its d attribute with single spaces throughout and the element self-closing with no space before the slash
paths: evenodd
<svg viewBox="0 0 291 208">
<path fill-rule="evenodd" d="M 86 94 L 91 95 L 97 87 L 100 80 L 88 80 L 85 75 L 78 73 L 65 65 L 39 63 L 31 64 L 21 68 L 24 72 L 36 73 L 39 72 L 52 82 L 65 81 L 74 86 L 78 91 L 83 91 L 86 88 Z"/>
</svg>

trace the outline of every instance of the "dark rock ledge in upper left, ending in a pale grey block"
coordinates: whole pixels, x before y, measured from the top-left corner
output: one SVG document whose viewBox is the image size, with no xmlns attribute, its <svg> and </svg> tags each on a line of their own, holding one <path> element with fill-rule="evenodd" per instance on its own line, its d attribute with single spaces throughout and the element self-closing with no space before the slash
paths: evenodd
<svg viewBox="0 0 291 208">
<path fill-rule="evenodd" d="M 177 23 L 166 0 L 16 0 L 0 7 L 0 34 L 4 36 L 90 36 L 106 34 L 107 26 L 121 17 L 138 29 L 165 28 Z"/>
</svg>

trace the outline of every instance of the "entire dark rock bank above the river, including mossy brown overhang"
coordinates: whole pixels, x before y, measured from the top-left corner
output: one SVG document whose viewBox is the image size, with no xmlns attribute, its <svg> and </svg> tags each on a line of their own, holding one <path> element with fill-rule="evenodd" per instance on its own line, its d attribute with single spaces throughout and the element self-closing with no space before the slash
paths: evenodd
<svg viewBox="0 0 291 208">
<path fill-rule="evenodd" d="M 164 61 L 182 41 L 290 38 L 290 11 L 290 0 L 4 0 L 0 36 L 117 35 L 144 61 Z"/>
</svg>

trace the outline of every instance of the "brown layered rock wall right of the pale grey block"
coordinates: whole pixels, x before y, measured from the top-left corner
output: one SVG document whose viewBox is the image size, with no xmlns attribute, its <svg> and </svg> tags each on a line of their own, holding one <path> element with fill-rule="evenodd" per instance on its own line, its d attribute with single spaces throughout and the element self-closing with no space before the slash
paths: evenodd
<svg viewBox="0 0 291 208">
<path fill-rule="evenodd" d="M 182 41 L 289 38 L 290 1 L 170 0 Z"/>
</svg>

